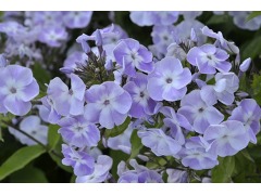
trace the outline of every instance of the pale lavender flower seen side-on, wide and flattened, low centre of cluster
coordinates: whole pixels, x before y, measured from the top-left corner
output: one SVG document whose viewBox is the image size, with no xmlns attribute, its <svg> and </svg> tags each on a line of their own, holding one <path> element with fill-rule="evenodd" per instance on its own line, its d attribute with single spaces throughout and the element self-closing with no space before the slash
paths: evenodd
<svg viewBox="0 0 261 195">
<path fill-rule="evenodd" d="M 174 156 L 182 150 L 181 144 L 161 129 L 138 131 L 138 136 L 142 144 L 151 148 L 157 156 Z"/>
</svg>

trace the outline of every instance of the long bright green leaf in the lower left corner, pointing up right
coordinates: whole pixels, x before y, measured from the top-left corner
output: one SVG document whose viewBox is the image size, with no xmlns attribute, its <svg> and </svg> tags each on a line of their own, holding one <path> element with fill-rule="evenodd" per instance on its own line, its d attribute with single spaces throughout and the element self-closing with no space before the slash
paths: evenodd
<svg viewBox="0 0 261 195">
<path fill-rule="evenodd" d="M 45 148 L 40 145 L 25 146 L 16 151 L 0 167 L 0 180 L 16 170 L 24 168 L 28 162 L 45 153 Z"/>
</svg>

